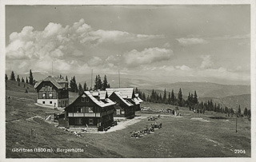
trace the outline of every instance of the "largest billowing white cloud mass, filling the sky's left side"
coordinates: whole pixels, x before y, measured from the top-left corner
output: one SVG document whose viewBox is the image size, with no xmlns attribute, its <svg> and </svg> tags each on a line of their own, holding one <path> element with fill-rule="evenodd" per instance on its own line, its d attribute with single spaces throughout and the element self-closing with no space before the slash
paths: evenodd
<svg viewBox="0 0 256 162">
<path fill-rule="evenodd" d="M 44 30 L 34 30 L 33 26 L 25 26 L 21 32 L 10 34 L 9 44 L 6 45 L 6 70 L 15 70 L 14 65 L 7 65 L 14 62 L 17 68 L 22 67 L 24 71 L 50 70 L 52 61 L 58 63 L 64 70 L 79 68 L 85 64 L 94 66 L 106 59 L 95 52 L 97 45 L 156 38 L 164 38 L 164 36 L 132 34 L 119 30 L 94 30 L 83 19 L 74 22 L 71 26 L 50 22 Z M 33 63 L 30 63 L 31 61 Z M 77 63 L 74 64 L 74 61 Z M 108 63 L 113 67 L 114 63 Z M 22 70 L 17 68 L 16 70 Z"/>
</svg>

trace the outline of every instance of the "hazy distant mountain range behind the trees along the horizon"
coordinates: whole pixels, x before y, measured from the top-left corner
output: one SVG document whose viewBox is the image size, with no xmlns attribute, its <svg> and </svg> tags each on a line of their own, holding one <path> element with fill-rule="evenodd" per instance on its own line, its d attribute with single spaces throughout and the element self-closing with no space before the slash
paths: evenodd
<svg viewBox="0 0 256 162">
<path fill-rule="evenodd" d="M 8 72 L 6 72 L 8 74 Z M 36 81 L 44 79 L 50 76 L 50 73 L 47 72 L 33 72 L 33 76 Z M 59 75 L 59 74 L 58 74 Z M 93 74 L 93 86 L 94 80 L 98 73 Z M 102 81 L 105 74 L 99 73 L 102 77 Z M 208 101 L 212 100 L 216 104 L 220 104 L 222 106 L 236 108 L 236 101 L 241 105 L 241 109 L 247 107 L 250 109 L 250 85 L 221 85 L 210 82 L 191 82 L 191 81 L 180 81 L 175 83 L 168 83 L 165 81 L 157 81 L 157 78 L 154 80 L 149 77 L 141 77 L 138 75 L 129 75 L 125 73 L 120 73 L 120 86 L 121 87 L 137 87 L 142 90 L 143 93 L 146 94 L 146 97 L 151 94 L 152 89 L 154 89 L 157 93 L 162 93 L 164 89 L 166 89 L 167 95 L 174 89 L 175 96 L 178 95 L 178 90 L 182 89 L 183 98 L 187 98 L 188 93 L 193 93 L 196 90 L 198 94 L 198 101 Z M 65 74 L 62 74 L 63 77 L 66 77 Z M 9 75 L 8 75 L 9 77 Z M 15 74 L 17 77 L 17 74 Z M 20 78 L 29 77 L 29 73 L 20 74 Z M 56 76 L 57 77 L 57 76 Z M 73 76 L 68 76 L 70 78 Z M 88 87 L 91 85 L 91 74 L 80 74 L 75 75 L 77 83 L 81 83 L 82 85 L 86 81 Z M 119 78 L 118 73 L 110 73 L 106 74 L 107 81 L 110 83 L 112 88 L 119 87 Z"/>
</svg>

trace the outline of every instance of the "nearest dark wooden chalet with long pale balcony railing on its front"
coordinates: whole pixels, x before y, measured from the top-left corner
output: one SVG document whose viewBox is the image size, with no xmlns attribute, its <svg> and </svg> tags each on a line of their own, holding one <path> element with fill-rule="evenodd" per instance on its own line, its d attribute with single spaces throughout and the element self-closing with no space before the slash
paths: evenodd
<svg viewBox="0 0 256 162">
<path fill-rule="evenodd" d="M 114 121 L 114 105 L 104 92 L 85 91 L 65 108 L 58 124 L 66 128 L 109 127 Z"/>
</svg>

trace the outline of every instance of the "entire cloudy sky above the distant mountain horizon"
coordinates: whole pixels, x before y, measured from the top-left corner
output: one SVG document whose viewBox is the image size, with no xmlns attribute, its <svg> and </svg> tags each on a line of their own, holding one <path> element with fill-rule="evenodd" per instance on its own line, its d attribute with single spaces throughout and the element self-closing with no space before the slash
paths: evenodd
<svg viewBox="0 0 256 162">
<path fill-rule="evenodd" d="M 6 71 L 250 84 L 250 6 L 6 6 Z"/>
</svg>

